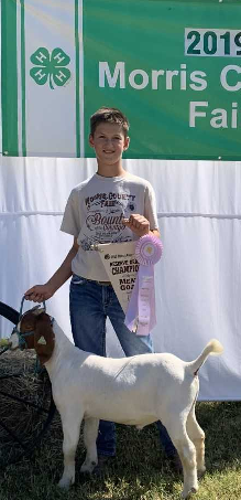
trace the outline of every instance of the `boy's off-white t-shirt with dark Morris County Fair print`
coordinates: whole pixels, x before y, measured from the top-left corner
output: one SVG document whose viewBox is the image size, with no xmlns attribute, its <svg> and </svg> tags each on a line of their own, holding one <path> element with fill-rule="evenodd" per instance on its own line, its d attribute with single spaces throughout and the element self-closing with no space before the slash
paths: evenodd
<svg viewBox="0 0 241 500">
<path fill-rule="evenodd" d="M 90 245 L 138 240 L 121 223 L 132 213 L 144 215 L 151 230 L 158 228 L 153 188 L 140 177 L 128 172 L 111 178 L 95 173 L 73 189 L 61 231 L 76 236 L 79 244 L 72 263 L 74 274 L 99 281 L 109 280 L 99 252 L 90 249 Z"/>
</svg>

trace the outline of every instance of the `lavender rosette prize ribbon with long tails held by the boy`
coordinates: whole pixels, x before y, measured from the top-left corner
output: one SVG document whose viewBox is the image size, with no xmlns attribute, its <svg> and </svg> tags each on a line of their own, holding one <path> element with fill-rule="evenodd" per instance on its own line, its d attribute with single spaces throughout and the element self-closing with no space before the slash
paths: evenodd
<svg viewBox="0 0 241 500">
<path fill-rule="evenodd" d="M 135 257 L 140 267 L 124 325 L 138 336 L 149 336 L 156 325 L 154 265 L 162 257 L 162 242 L 150 234 L 142 236 L 135 247 Z"/>
</svg>

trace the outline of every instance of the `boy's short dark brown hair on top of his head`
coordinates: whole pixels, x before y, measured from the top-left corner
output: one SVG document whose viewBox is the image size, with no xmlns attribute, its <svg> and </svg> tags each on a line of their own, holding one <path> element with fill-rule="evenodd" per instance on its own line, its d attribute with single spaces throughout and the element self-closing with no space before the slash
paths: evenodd
<svg viewBox="0 0 241 500">
<path fill-rule="evenodd" d="M 124 137 L 128 136 L 130 127 L 127 116 L 118 108 L 108 108 L 102 106 L 90 116 L 90 135 L 94 136 L 96 128 L 99 124 L 118 124 L 121 125 Z"/>
</svg>

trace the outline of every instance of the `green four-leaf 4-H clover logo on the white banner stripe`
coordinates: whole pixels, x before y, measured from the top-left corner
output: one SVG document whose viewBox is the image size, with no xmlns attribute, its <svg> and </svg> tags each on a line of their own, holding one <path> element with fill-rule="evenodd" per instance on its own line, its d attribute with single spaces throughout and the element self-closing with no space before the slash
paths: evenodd
<svg viewBox="0 0 241 500">
<path fill-rule="evenodd" d="M 36 67 L 30 70 L 30 75 L 37 85 L 44 85 L 50 76 L 50 87 L 54 89 L 53 82 L 62 87 L 70 78 L 70 71 L 65 67 L 70 57 L 62 49 L 54 49 L 52 54 L 44 46 L 40 46 L 30 57 Z"/>
</svg>

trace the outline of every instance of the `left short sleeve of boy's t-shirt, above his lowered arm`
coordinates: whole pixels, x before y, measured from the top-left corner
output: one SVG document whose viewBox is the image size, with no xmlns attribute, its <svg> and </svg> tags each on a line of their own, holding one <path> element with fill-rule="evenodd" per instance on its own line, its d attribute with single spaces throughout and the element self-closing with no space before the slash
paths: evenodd
<svg viewBox="0 0 241 500">
<path fill-rule="evenodd" d="M 72 191 L 65 208 L 61 231 L 78 237 L 80 232 L 80 216 L 78 206 L 78 195 Z"/>
</svg>

